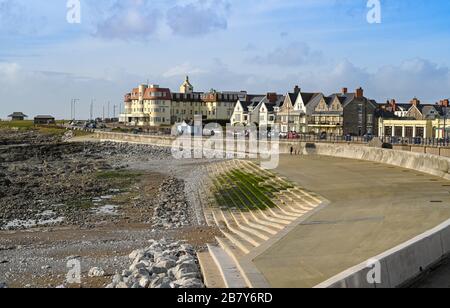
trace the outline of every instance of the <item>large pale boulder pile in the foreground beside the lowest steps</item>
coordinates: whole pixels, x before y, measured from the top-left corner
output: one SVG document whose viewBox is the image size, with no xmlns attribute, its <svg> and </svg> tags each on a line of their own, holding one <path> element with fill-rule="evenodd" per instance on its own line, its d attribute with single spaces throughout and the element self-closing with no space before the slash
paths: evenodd
<svg viewBox="0 0 450 308">
<path fill-rule="evenodd" d="M 151 240 L 129 258 L 130 268 L 114 275 L 107 288 L 204 288 L 195 250 L 188 244 Z"/>
</svg>

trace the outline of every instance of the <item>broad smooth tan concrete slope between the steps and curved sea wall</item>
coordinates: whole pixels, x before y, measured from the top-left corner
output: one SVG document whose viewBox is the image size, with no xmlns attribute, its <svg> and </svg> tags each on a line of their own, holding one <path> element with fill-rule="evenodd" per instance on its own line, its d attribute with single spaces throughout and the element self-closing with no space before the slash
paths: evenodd
<svg viewBox="0 0 450 308">
<path fill-rule="evenodd" d="M 277 172 L 330 204 L 254 260 L 273 287 L 313 287 L 450 218 L 450 182 L 417 171 L 283 156 Z"/>
</svg>

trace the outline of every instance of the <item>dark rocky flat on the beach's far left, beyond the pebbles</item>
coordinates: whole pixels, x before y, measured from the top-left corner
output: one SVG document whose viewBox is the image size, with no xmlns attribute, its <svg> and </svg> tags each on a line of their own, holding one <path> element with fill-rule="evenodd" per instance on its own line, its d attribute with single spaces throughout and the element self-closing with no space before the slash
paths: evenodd
<svg viewBox="0 0 450 308">
<path fill-rule="evenodd" d="M 89 226 L 97 202 L 127 189 L 131 160 L 167 159 L 153 146 L 69 143 L 0 150 L 0 228 Z M 113 181 L 116 180 L 116 181 Z M 124 186 L 124 187 L 121 187 Z"/>
</svg>

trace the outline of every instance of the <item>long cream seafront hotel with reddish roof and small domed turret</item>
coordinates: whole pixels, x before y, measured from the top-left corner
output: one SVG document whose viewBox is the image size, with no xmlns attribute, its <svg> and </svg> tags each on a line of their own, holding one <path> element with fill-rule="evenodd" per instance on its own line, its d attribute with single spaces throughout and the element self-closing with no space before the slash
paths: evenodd
<svg viewBox="0 0 450 308">
<path fill-rule="evenodd" d="M 128 125 L 170 127 L 175 123 L 191 122 L 201 115 L 205 122 L 229 122 L 236 102 L 246 100 L 247 93 L 194 92 L 189 77 L 172 93 L 158 85 L 140 85 L 125 95 L 125 113 L 121 121 Z"/>
</svg>

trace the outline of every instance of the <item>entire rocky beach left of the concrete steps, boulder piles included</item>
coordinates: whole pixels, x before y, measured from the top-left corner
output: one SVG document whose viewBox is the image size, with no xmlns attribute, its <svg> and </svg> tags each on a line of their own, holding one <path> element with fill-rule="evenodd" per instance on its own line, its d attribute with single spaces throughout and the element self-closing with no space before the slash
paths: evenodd
<svg viewBox="0 0 450 308">
<path fill-rule="evenodd" d="M 217 231 L 200 218 L 202 162 L 150 145 L 32 140 L 0 134 L 0 287 L 72 287 L 74 255 L 90 269 L 83 287 L 204 287 L 196 251 Z"/>
</svg>

